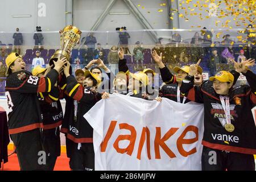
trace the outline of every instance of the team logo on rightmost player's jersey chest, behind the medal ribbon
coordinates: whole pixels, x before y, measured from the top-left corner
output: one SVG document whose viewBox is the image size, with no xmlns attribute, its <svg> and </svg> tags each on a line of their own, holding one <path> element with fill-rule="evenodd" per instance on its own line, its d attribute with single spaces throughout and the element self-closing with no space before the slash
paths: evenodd
<svg viewBox="0 0 256 182">
<path fill-rule="evenodd" d="M 221 125 L 224 127 L 226 125 L 226 115 L 222 105 L 218 103 L 211 103 L 211 104 L 213 109 L 210 110 L 210 114 L 212 114 L 214 118 L 218 118 Z M 236 110 L 234 110 L 234 107 L 236 107 L 236 105 L 229 105 L 229 107 L 230 107 L 230 119 L 234 120 L 234 117 L 236 118 L 238 117 Z"/>
</svg>

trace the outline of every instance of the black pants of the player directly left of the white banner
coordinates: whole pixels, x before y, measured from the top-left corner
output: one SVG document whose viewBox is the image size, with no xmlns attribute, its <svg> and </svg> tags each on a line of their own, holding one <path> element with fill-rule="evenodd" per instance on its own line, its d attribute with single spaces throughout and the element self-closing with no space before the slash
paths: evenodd
<svg viewBox="0 0 256 182">
<path fill-rule="evenodd" d="M 93 143 L 81 143 L 80 150 L 77 147 L 78 143 L 75 143 L 69 162 L 71 169 L 73 171 L 94 171 Z"/>
</svg>

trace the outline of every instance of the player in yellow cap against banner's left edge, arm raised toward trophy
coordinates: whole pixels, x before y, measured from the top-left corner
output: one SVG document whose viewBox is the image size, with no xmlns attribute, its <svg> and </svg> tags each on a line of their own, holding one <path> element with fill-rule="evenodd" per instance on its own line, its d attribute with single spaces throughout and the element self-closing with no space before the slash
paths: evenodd
<svg viewBox="0 0 256 182">
<path fill-rule="evenodd" d="M 93 129 L 83 117 L 96 102 L 101 100 L 101 94 L 97 92 L 97 86 L 101 82 L 100 76 L 85 71 L 84 85 L 69 75 L 70 64 L 64 66 L 64 74 L 67 77 L 66 92 L 75 100 L 74 119 L 68 125 L 67 137 L 75 144 L 72 145 L 70 166 L 72 170 L 94 170 Z"/>
</svg>

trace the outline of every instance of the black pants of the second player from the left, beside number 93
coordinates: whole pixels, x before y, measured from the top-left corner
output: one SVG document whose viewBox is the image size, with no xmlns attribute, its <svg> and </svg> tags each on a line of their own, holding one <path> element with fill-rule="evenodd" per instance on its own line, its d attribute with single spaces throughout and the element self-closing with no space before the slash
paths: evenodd
<svg viewBox="0 0 256 182">
<path fill-rule="evenodd" d="M 60 156 L 60 128 L 43 130 L 43 149 L 46 151 L 46 170 L 53 171 L 57 156 Z"/>
</svg>

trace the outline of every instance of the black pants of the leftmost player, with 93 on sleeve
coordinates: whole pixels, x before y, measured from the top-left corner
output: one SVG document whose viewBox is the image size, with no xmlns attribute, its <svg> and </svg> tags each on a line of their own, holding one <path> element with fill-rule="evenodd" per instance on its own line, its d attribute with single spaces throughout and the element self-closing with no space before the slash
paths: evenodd
<svg viewBox="0 0 256 182">
<path fill-rule="evenodd" d="M 34 171 L 46 168 L 45 164 L 39 162 L 43 151 L 39 129 L 11 134 L 11 139 L 16 147 L 20 170 Z"/>
</svg>

